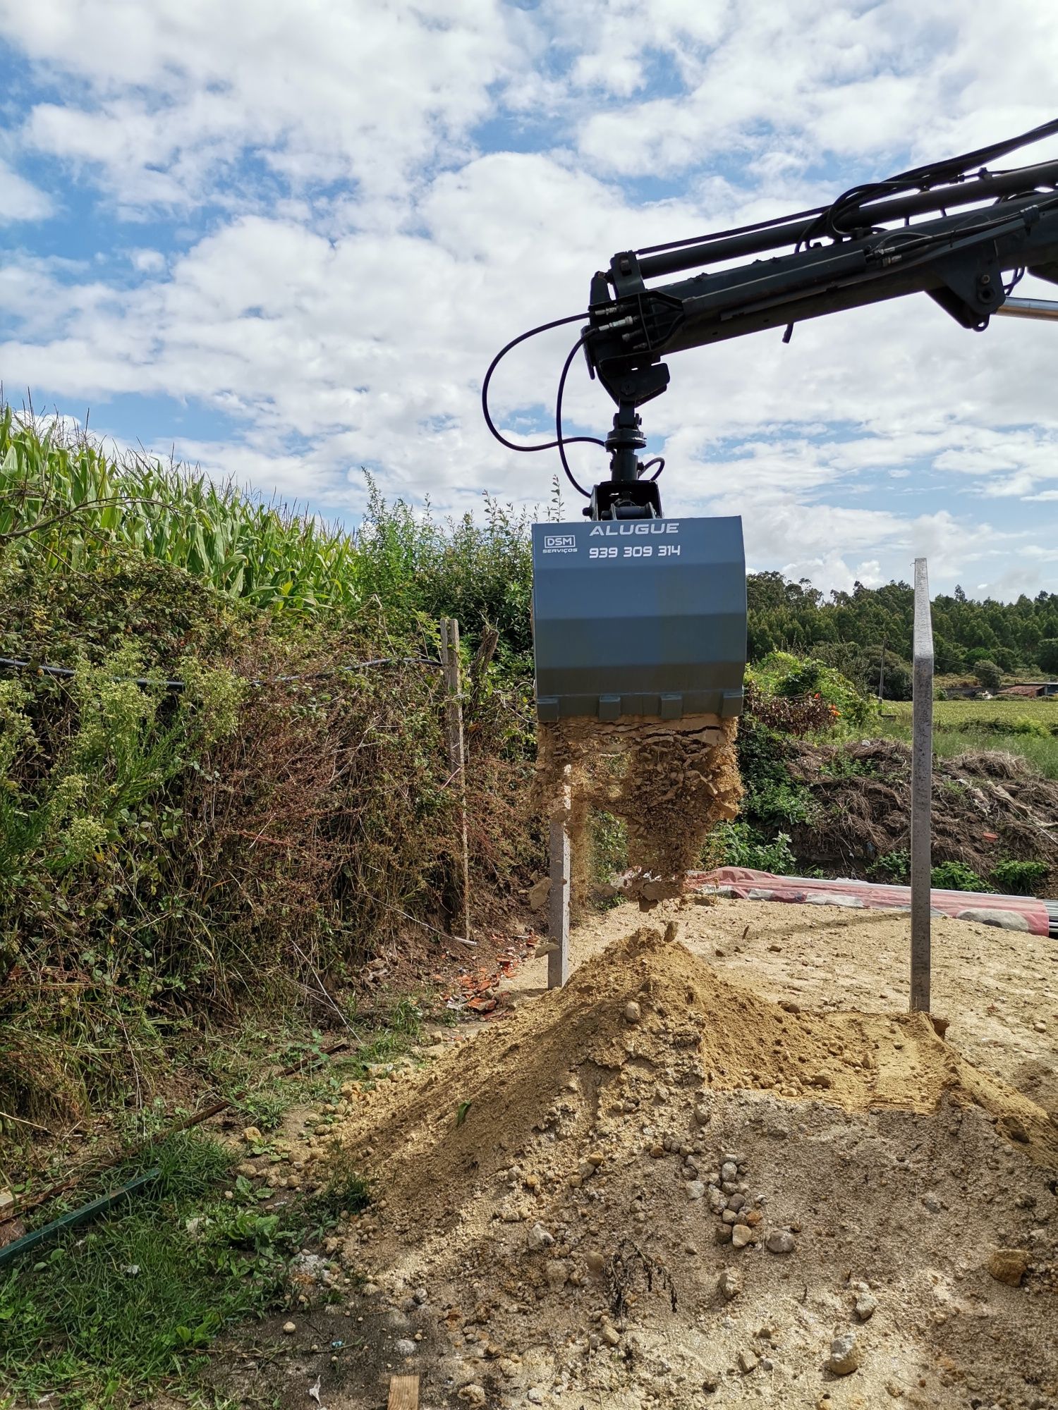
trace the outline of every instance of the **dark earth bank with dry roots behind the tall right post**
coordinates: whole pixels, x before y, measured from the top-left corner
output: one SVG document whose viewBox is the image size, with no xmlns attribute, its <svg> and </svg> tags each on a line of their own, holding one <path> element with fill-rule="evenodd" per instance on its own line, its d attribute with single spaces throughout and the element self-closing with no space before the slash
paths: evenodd
<svg viewBox="0 0 1058 1410">
<path fill-rule="evenodd" d="M 911 845 L 911 752 L 890 739 L 820 746 L 800 742 L 790 773 L 810 785 L 817 812 L 790 829 L 798 862 L 862 874 Z M 987 877 L 1006 859 L 1045 862 L 1058 883 L 1058 783 L 1002 750 L 937 759 L 932 860 Z M 989 838 L 987 833 L 995 835 Z"/>
</svg>

